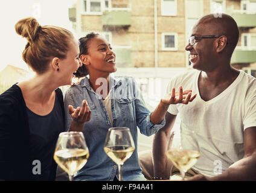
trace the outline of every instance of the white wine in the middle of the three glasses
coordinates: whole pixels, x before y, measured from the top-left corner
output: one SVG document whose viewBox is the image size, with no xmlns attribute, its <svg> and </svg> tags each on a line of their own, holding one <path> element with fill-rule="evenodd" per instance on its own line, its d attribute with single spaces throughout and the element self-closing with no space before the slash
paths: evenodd
<svg viewBox="0 0 256 193">
<path fill-rule="evenodd" d="M 127 145 L 115 145 L 104 147 L 104 151 L 118 165 L 123 165 L 124 162 L 132 156 L 134 147 Z"/>
</svg>

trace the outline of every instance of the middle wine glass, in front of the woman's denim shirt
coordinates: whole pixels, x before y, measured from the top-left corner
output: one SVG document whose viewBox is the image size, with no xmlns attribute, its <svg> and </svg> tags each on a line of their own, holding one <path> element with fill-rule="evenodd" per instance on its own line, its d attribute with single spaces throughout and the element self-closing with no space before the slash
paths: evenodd
<svg viewBox="0 0 256 193">
<path fill-rule="evenodd" d="M 132 134 L 127 127 L 111 127 L 107 131 L 104 151 L 118 165 L 118 178 L 123 180 L 122 168 L 124 162 L 132 156 L 135 150 Z"/>
</svg>

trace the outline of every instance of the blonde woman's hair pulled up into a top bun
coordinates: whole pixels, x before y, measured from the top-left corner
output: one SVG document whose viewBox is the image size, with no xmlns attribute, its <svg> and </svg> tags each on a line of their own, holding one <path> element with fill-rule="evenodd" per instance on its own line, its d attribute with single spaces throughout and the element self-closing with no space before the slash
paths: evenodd
<svg viewBox="0 0 256 193">
<path fill-rule="evenodd" d="M 74 39 L 71 31 L 50 25 L 40 26 L 34 17 L 18 21 L 15 30 L 28 40 L 22 59 L 39 74 L 48 69 L 53 57 L 65 59 L 69 42 Z"/>
</svg>

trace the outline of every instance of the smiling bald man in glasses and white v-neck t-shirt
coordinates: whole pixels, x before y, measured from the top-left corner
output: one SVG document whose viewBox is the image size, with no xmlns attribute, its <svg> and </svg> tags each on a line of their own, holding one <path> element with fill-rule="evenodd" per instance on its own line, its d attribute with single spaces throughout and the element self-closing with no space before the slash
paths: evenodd
<svg viewBox="0 0 256 193">
<path fill-rule="evenodd" d="M 194 130 L 201 153 L 193 166 L 199 175 L 190 180 L 256 180 L 256 79 L 230 65 L 238 37 L 227 14 L 204 16 L 193 27 L 185 49 L 194 69 L 173 78 L 167 92 L 182 85 L 197 96 L 169 107 L 153 141 L 155 177 L 165 177 L 165 147 L 179 113 L 182 145 L 190 148 L 185 131 Z"/>
</svg>

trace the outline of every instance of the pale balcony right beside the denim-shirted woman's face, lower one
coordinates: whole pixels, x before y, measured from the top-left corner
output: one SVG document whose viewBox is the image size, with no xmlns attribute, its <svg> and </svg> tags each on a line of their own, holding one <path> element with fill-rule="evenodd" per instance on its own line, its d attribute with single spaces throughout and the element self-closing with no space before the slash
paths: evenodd
<svg viewBox="0 0 256 193">
<path fill-rule="evenodd" d="M 117 63 L 117 67 L 128 67 L 129 64 L 131 63 L 130 48 L 114 47 L 113 51 L 115 52 L 115 55 L 116 55 L 115 62 Z"/>
</svg>

